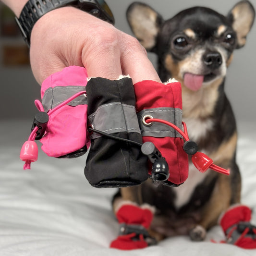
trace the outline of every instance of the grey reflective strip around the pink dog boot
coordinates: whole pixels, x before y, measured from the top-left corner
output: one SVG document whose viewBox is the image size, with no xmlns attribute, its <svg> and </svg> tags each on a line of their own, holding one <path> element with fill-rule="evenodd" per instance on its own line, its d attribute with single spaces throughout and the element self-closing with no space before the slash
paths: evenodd
<svg viewBox="0 0 256 256">
<path fill-rule="evenodd" d="M 45 112 L 51 110 L 61 104 L 66 99 L 72 97 L 74 94 L 85 91 L 85 86 L 55 86 L 48 88 L 42 99 L 42 104 Z M 73 99 L 67 105 L 77 106 L 77 105 L 85 105 L 87 104 L 87 98 L 85 95 L 80 95 L 79 97 Z"/>
</svg>

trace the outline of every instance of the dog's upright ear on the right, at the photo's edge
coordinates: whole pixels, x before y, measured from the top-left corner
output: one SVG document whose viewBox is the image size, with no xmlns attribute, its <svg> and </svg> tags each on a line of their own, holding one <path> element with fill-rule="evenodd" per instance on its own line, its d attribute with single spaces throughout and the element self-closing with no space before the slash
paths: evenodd
<svg viewBox="0 0 256 256">
<path fill-rule="evenodd" d="M 232 8 L 227 18 L 236 32 L 237 49 L 239 49 L 245 45 L 246 36 L 254 23 L 255 10 L 249 1 L 243 0 Z"/>
</svg>

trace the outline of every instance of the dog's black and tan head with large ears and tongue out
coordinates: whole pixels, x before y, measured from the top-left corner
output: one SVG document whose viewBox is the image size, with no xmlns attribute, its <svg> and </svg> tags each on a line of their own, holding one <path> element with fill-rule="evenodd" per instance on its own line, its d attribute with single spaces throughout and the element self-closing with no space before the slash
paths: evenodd
<svg viewBox="0 0 256 256">
<path fill-rule="evenodd" d="M 224 81 L 233 50 L 244 46 L 254 17 L 249 1 L 237 3 L 227 16 L 194 7 L 167 21 L 144 3 L 135 2 L 127 11 L 135 37 L 147 51 L 158 55 L 162 81 L 174 77 L 181 82 L 184 117 L 194 107 L 186 104 L 195 97 L 195 92 L 213 89 L 212 97 L 218 97 L 218 87 Z M 198 100 L 201 99 L 195 98 Z M 200 114 L 205 117 L 212 111 L 213 106 Z"/>
</svg>

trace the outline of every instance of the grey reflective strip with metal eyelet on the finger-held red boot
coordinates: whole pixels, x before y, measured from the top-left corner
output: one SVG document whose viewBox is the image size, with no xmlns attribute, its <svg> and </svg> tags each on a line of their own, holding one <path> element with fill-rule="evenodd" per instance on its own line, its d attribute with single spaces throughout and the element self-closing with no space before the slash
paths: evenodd
<svg viewBox="0 0 256 256">
<path fill-rule="evenodd" d="M 175 124 L 177 127 L 182 129 L 182 110 L 179 108 L 154 108 L 141 110 L 137 116 L 141 129 L 142 136 L 152 137 L 182 137 L 172 127 L 160 123 L 153 122 L 152 125 L 146 126 L 142 120 L 145 115 L 150 115 L 153 118 L 162 119 Z"/>
</svg>

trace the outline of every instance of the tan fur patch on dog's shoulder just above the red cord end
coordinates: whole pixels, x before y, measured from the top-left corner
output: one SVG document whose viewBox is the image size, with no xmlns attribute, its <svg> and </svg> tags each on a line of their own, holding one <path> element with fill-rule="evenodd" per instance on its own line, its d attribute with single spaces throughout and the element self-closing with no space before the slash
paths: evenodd
<svg viewBox="0 0 256 256">
<path fill-rule="evenodd" d="M 237 133 L 235 132 L 228 141 L 224 141 L 218 149 L 209 155 L 214 163 L 221 165 L 224 162 L 230 162 L 234 156 L 237 144 Z M 227 168 L 230 168 L 227 166 Z"/>
</svg>

